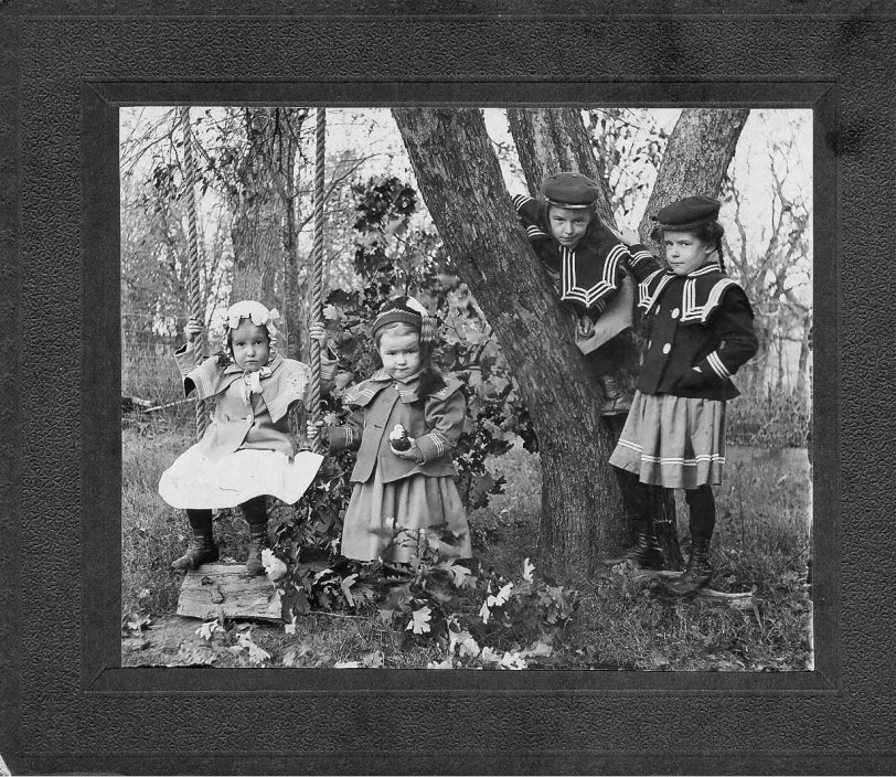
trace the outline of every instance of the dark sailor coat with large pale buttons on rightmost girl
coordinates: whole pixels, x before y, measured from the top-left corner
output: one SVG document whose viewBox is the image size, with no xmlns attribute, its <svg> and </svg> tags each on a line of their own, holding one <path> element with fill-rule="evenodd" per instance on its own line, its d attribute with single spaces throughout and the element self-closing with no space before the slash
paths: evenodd
<svg viewBox="0 0 896 777">
<path fill-rule="evenodd" d="M 759 345 L 740 286 L 714 262 L 686 276 L 659 269 L 638 291 L 650 327 L 638 390 L 708 400 L 737 396 L 732 375 Z"/>
</svg>

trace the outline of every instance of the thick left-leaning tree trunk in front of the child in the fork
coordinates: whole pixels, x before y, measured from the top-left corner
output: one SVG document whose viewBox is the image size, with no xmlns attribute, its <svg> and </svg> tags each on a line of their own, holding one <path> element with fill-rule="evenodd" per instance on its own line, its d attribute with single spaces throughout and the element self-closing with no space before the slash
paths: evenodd
<svg viewBox="0 0 896 777">
<path fill-rule="evenodd" d="M 600 395 L 575 348 L 568 317 L 518 226 L 501 169 L 476 109 L 393 110 L 420 193 L 511 364 L 542 459 L 543 568 L 587 576 L 619 550 Z"/>
</svg>

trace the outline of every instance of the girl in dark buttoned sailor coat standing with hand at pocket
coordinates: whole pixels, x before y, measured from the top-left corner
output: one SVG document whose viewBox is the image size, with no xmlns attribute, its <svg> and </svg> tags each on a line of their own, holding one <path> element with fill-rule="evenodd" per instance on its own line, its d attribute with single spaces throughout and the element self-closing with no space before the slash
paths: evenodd
<svg viewBox="0 0 896 777">
<path fill-rule="evenodd" d="M 682 488 L 690 509 L 691 555 L 670 589 L 680 595 L 712 577 L 715 526 L 713 486 L 725 462 L 725 403 L 739 394 L 732 375 L 757 351 L 753 308 L 725 274 L 721 203 L 706 196 L 673 202 L 654 216 L 668 269 L 639 287 L 638 306 L 650 326 L 644 363 L 610 464 L 634 500 L 636 545 L 629 557 L 662 562 L 647 485 Z M 640 246 L 642 249 L 643 247 Z"/>
</svg>

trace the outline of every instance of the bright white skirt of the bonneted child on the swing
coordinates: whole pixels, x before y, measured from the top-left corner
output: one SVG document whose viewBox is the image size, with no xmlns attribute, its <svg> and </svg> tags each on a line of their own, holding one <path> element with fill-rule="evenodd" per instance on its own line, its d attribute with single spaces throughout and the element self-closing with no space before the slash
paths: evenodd
<svg viewBox="0 0 896 777">
<path fill-rule="evenodd" d="M 172 508 L 234 508 L 253 497 L 301 498 L 323 457 L 302 450 L 290 459 L 279 450 L 241 449 L 212 461 L 199 446 L 181 454 L 159 479 L 159 493 Z"/>
</svg>

